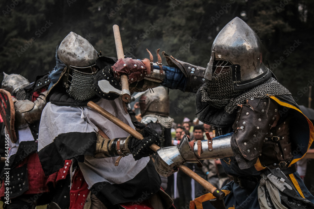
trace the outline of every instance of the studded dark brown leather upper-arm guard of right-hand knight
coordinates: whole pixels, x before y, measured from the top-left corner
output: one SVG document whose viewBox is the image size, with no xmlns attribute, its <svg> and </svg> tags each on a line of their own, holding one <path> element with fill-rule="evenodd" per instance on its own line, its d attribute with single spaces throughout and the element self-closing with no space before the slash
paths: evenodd
<svg viewBox="0 0 314 209">
<path fill-rule="evenodd" d="M 238 106 L 231 147 L 240 169 L 246 169 L 253 166 L 261 154 L 265 137 L 279 117 L 278 106 L 270 98 L 255 98 Z"/>
</svg>

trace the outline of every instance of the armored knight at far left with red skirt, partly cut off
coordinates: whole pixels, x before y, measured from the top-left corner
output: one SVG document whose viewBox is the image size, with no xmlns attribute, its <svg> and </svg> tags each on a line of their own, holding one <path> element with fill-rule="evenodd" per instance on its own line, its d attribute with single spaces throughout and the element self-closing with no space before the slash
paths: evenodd
<svg viewBox="0 0 314 209">
<path fill-rule="evenodd" d="M 14 112 L 15 117 L 9 118 L 6 124 L 6 137 L 11 137 L 9 143 L 8 164 L 2 170 L 1 178 L 7 180 L 9 170 L 9 183 L 4 184 L 0 189 L 3 208 L 35 208 L 36 205 L 50 203 L 58 208 L 68 208 L 70 175 L 69 168 L 61 168 L 57 172 L 45 176 L 37 154 L 38 130 L 41 119 L 41 112 L 46 105 L 45 97 L 50 83 L 48 74 L 37 76 L 33 83 L 18 74 L 4 74 L 2 90 L 8 92 L 2 94 L 1 115 L 4 121 L 7 116 Z M 5 105 L 4 97 L 12 96 L 10 109 Z M 14 126 L 10 122 L 14 121 Z M 6 121 L 5 121 L 6 122 Z M 15 131 L 14 131 L 15 129 Z M 14 134 L 9 134 L 13 133 Z M 13 139 L 14 138 L 14 139 Z M 67 163 L 71 165 L 71 161 Z M 62 175 L 60 175 L 62 173 Z M 58 175 L 59 174 L 59 175 Z M 5 194 L 9 192 L 9 200 Z M 61 199 L 62 197 L 62 199 Z"/>
</svg>

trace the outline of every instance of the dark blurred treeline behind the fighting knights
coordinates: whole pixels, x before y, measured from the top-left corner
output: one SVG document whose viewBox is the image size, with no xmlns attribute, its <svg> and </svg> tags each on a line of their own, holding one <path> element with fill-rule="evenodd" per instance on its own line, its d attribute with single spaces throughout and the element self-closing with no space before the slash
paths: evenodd
<svg viewBox="0 0 314 209">
<path fill-rule="evenodd" d="M 70 31 L 103 55 L 116 56 L 113 24 L 120 26 L 128 56 L 142 59 L 148 57 L 146 48 L 152 53 L 160 48 L 205 67 L 215 36 L 238 16 L 261 38 L 265 64 L 267 60 L 279 82 L 307 106 L 314 77 L 313 4 L 311 0 L 3 0 L 1 72 L 19 73 L 32 81 L 51 71 L 56 47 Z M 195 117 L 193 95 L 171 91 L 171 100 L 172 117 Z"/>
</svg>

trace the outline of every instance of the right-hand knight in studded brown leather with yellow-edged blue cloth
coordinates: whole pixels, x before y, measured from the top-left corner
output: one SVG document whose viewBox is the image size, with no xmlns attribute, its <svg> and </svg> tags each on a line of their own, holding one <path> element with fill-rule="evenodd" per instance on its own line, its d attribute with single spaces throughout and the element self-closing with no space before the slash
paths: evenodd
<svg viewBox="0 0 314 209">
<path fill-rule="evenodd" d="M 131 86 L 155 79 L 196 92 L 198 119 L 216 127 L 216 137 L 208 134 L 202 143 L 185 137 L 178 146 L 159 149 L 155 168 L 169 176 L 174 165 L 220 158 L 234 179 L 222 188 L 224 202 L 206 194 L 191 208 L 313 208 L 314 197 L 295 169 L 313 141 L 313 124 L 263 64 L 257 34 L 234 18 L 215 38 L 206 69 L 163 55 L 168 66 L 154 66 Z M 117 74 L 126 73 L 117 67 Z"/>
</svg>

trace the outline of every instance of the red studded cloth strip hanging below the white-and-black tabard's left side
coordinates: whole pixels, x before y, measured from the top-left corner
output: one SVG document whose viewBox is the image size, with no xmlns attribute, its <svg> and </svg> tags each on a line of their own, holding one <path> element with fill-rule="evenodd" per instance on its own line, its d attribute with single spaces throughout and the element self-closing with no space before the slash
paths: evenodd
<svg viewBox="0 0 314 209">
<path fill-rule="evenodd" d="M 89 194 L 88 185 L 83 177 L 82 171 L 76 169 L 72 178 L 70 189 L 70 209 L 83 209 Z"/>
</svg>

